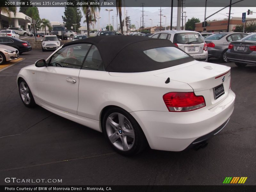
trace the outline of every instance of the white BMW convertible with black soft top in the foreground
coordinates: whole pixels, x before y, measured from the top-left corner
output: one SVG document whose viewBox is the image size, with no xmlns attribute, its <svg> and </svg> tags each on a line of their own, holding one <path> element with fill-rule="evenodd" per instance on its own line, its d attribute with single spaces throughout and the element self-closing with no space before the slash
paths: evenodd
<svg viewBox="0 0 256 192">
<path fill-rule="evenodd" d="M 20 70 L 20 98 L 103 132 L 123 155 L 181 151 L 220 132 L 234 110 L 230 67 L 194 60 L 169 40 L 69 42 Z M 225 141 L 223 141 L 225 142 Z"/>
</svg>

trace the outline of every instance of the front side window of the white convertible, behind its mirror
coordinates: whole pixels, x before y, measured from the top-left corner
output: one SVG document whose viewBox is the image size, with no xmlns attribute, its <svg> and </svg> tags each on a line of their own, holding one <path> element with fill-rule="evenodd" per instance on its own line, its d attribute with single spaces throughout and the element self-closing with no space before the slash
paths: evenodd
<svg viewBox="0 0 256 192">
<path fill-rule="evenodd" d="M 63 47 L 54 55 L 48 66 L 80 69 L 91 44 L 73 44 Z"/>
</svg>

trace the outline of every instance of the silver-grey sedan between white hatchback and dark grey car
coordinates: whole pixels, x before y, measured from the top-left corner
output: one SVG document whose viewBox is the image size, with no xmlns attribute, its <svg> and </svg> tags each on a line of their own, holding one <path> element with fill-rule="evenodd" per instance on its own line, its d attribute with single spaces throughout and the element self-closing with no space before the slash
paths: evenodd
<svg viewBox="0 0 256 192">
<path fill-rule="evenodd" d="M 227 63 L 228 45 L 231 41 L 237 41 L 247 36 L 246 33 L 236 33 L 236 32 L 225 32 L 218 33 L 208 36 L 204 39 L 207 48 L 209 58 L 214 57 L 221 59 L 223 62 Z"/>
</svg>

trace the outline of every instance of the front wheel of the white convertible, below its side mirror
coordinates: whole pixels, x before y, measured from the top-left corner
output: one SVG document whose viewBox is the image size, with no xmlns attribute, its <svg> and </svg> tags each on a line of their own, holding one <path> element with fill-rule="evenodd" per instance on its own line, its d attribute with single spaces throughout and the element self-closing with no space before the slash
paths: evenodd
<svg viewBox="0 0 256 192">
<path fill-rule="evenodd" d="M 21 85 L 21 84 L 23 84 L 23 85 Z M 34 97 L 31 93 L 30 88 L 28 87 L 28 84 L 26 83 L 26 81 L 24 79 L 20 79 L 18 86 L 19 86 L 20 99 L 23 102 L 23 104 L 29 108 L 35 107 L 36 102 L 34 100 Z M 26 90 L 23 89 L 23 87 L 25 87 Z M 30 100 L 28 101 L 28 99 L 24 98 L 24 95 L 28 95 L 27 98 L 30 98 Z"/>
</svg>

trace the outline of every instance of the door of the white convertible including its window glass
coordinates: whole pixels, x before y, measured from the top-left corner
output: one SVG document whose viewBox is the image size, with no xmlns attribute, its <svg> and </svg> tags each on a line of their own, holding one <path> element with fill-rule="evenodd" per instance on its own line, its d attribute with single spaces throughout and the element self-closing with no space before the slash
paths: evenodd
<svg viewBox="0 0 256 192">
<path fill-rule="evenodd" d="M 68 45 L 36 70 L 38 99 L 54 108 L 77 114 L 79 72 L 91 44 Z"/>
</svg>

